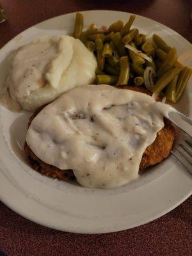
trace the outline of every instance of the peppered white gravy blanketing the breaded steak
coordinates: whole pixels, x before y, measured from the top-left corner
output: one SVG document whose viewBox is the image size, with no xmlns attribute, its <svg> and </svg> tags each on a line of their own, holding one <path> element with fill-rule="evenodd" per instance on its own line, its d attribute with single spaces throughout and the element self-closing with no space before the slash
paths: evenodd
<svg viewBox="0 0 192 256">
<path fill-rule="evenodd" d="M 74 170 L 82 186 L 115 188 L 138 177 L 143 152 L 170 109 L 144 93 L 81 86 L 46 106 L 26 141 L 45 163 Z"/>
</svg>

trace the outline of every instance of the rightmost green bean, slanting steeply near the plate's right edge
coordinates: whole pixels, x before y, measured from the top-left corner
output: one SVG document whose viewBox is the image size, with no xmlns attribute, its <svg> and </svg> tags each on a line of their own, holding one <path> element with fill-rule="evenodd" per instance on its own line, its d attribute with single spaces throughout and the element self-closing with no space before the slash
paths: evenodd
<svg viewBox="0 0 192 256">
<path fill-rule="evenodd" d="M 179 78 L 176 85 L 176 101 L 180 99 L 182 93 L 184 92 L 184 88 L 186 88 L 186 84 L 189 81 L 191 76 L 191 69 L 188 67 L 184 67 L 182 72 L 179 74 Z"/>
</svg>

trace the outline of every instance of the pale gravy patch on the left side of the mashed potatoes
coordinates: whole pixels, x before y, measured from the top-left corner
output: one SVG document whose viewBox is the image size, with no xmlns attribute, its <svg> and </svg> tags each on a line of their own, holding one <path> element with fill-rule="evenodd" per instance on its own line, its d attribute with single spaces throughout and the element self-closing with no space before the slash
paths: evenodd
<svg viewBox="0 0 192 256">
<path fill-rule="evenodd" d="M 27 44 L 19 48 L 12 62 L 8 77 L 13 99 L 20 99 L 45 86 L 47 65 L 57 54 L 56 44 L 51 42 Z"/>
</svg>

